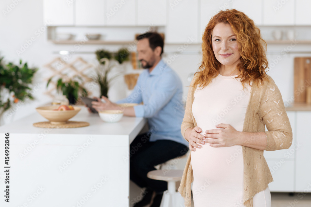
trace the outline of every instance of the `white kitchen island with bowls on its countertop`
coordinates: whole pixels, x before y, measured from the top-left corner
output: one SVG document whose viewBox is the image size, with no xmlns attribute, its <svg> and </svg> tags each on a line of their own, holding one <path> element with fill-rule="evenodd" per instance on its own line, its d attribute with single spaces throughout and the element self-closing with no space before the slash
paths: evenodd
<svg viewBox="0 0 311 207">
<path fill-rule="evenodd" d="M 0 206 L 129 206 L 129 145 L 146 120 L 122 117 L 105 123 L 81 108 L 71 121 L 87 121 L 90 126 L 37 128 L 33 123 L 46 120 L 34 113 L 0 127 Z M 5 133 L 9 165 L 4 158 Z M 4 201 L 6 169 L 9 203 Z"/>
</svg>

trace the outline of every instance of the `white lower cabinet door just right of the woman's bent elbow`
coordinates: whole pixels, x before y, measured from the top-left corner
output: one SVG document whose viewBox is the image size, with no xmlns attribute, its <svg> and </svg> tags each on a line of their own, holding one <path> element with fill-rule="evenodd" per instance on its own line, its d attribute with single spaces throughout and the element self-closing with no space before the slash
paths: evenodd
<svg viewBox="0 0 311 207">
<path fill-rule="evenodd" d="M 263 156 L 266 159 L 285 159 L 285 160 L 293 160 L 295 158 L 295 148 L 297 145 L 296 141 L 296 112 L 295 111 L 287 111 L 288 119 L 290 120 L 290 126 L 293 131 L 293 142 L 290 148 L 281 149 L 275 151 L 264 151 Z M 267 128 L 266 128 L 267 131 Z M 286 172 L 284 172 L 286 173 Z"/>
</svg>

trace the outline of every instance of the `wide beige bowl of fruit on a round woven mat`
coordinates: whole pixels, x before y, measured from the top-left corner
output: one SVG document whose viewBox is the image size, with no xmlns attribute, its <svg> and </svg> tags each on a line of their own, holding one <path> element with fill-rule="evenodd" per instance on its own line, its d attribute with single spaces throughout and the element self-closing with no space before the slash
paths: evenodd
<svg viewBox="0 0 311 207">
<path fill-rule="evenodd" d="M 76 106 L 67 106 L 68 110 L 58 110 L 61 106 L 42 106 L 36 108 L 37 112 L 48 119 L 51 124 L 64 124 L 81 110 Z M 70 109 L 72 107 L 72 109 Z M 66 107 L 62 107 L 64 109 Z M 66 108 L 66 109 L 67 109 Z M 55 110 L 56 109 L 56 110 Z"/>
</svg>

